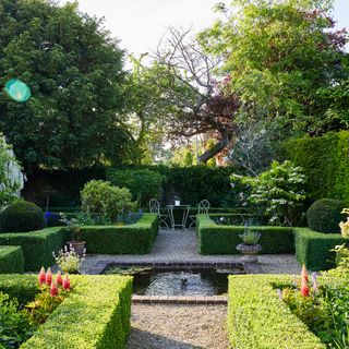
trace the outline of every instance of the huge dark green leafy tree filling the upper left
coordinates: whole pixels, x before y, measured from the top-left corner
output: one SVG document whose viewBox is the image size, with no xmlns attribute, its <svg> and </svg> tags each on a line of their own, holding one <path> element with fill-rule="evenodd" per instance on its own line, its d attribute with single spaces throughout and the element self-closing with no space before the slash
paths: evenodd
<svg viewBox="0 0 349 349">
<path fill-rule="evenodd" d="M 0 21 L 0 83 L 19 77 L 33 95 L 25 104 L 0 95 L 1 131 L 25 168 L 123 158 L 123 51 L 103 21 L 49 0 L 2 0 Z"/>
</svg>

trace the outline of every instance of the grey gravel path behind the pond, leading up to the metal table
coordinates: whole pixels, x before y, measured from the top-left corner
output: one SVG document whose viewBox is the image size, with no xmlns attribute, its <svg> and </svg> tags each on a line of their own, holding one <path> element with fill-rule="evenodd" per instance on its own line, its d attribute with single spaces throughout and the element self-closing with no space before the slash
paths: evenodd
<svg viewBox="0 0 349 349">
<path fill-rule="evenodd" d="M 294 255 L 260 255 L 260 263 L 249 267 L 254 274 L 299 274 L 301 267 Z M 197 253 L 196 233 L 194 230 L 160 230 L 153 245 L 152 253 L 145 255 L 87 255 L 82 272 L 95 274 L 94 268 L 108 263 L 142 262 L 241 262 L 240 255 L 201 255 Z"/>
</svg>

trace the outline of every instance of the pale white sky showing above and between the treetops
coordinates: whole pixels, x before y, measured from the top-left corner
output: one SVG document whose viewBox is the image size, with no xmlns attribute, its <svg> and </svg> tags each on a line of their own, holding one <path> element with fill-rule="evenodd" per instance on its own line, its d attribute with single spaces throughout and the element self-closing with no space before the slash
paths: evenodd
<svg viewBox="0 0 349 349">
<path fill-rule="evenodd" d="M 217 17 L 212 11 L 216 2 L 219 0 L 79 1 L 81 11 L 104 16 L 106 28 L 121 39 L 120 47 L 136 55 L 155 50 L 168 26 L 193 26 L 194 32 L 208 27 Z M 338 28 L 349 27 L 349 0 L 335 0 L 334 17 Z"/>
</svg>

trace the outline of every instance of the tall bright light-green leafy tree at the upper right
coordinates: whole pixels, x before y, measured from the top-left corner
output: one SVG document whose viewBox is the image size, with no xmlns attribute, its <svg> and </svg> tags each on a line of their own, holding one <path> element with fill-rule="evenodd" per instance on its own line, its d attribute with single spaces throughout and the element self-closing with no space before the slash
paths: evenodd
<svg viewBox="0 0 349 349">
<path fill-rule="evenodd" d="M 224 56 L 222 74 L 249 112 L 239 121 L 276 120 L 311 134 L 347 128 L 346 31 L 335 31 L 330 0 L 234 0 L 226 20 L 200 35 Z M 338 96 L 341 98 L 338 101 Z M 337 98 L 337 99 L 336 99 Z M 348 110 L 348 108 L 346 109 Z"/>
</svg>

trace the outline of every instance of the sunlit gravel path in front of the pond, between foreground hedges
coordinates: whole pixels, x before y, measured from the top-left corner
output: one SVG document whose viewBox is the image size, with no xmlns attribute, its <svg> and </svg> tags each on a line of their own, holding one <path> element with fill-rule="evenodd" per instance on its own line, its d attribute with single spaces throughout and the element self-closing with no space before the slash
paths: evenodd
<svg viewBox="0 0 349 349">
<path fill-rule="evenodd" d="M 228 349 L 224 305 L 132 305 L 129 349 Z"/>
</svg>

